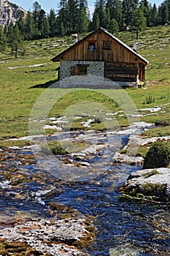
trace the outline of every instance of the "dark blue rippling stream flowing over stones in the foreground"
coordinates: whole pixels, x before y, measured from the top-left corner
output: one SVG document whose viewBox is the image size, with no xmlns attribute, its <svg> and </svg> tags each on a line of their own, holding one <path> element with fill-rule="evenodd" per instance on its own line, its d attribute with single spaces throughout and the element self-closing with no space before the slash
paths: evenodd
<svg viewBox="0 0 170 256">
<path fill-rule="evenodd" d="M 6 170 L 15 166 L 19 174 L 13 172 L 13 183 L 17 183 L 13 188 L 9 187 L 3 172 L 0 176 L 1 219 L 14 219 L 16 213 L 47 218 L 47 203 L 55 202 L 95 217 L 96 240 L 84 249 L 89 255 L 169 255 L 169 208 L 118 198 L 118 186 L 132 171 L 142 169 L 140 165 L 112 165 L 113 152 L 124 146 L 127 139 L 127 134 L 110 136 L 112 146 L 88 157 L 88 167 L 65 165 L 62 157 L 54 156 L 40 158 L 39 165 L 36 160 L 23 165 L 23 159 L 26 160 L 31 151 L 18 153 L 13 149 L 12 157 L 6 153 L 6 161 L 2 161 L 7 165 Z M 23 173 L 26 180 L 20 183 Z M 58 182 L 58 178 L 61 181 L 63 177 L 65 181 Z"/>
</svg>

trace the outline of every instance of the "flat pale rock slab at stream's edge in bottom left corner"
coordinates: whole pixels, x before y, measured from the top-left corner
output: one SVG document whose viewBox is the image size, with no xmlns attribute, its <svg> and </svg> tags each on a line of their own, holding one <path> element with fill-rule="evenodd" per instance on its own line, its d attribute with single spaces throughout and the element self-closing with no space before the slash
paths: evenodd
<svg viewBox="0 0 170 256">
<path fill-rule="evenodd" d="M 85 256 L 87 254 L 72 246 L 74 241 L 88 236 L 84 222 L 85 219 L 82 218 L 58 219 L 55 223 L 48 219 L 34 219 L 0 230 L 0 237 L 6 241 L 26 242 L 37 251 L 48 255 Z"/>
</svg>

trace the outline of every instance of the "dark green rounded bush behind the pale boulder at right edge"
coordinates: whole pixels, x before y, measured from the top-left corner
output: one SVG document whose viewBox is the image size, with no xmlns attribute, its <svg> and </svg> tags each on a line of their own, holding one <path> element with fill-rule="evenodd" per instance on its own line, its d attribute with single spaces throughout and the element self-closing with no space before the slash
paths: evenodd
<svg viewBox="0 0 170 256">
<path fill-rule="evenodd" d="M 152 144 L 144 158 L 144 169 L 168 167 L 170 162 L 170 143 L 156 142 Z"/>
</svg>

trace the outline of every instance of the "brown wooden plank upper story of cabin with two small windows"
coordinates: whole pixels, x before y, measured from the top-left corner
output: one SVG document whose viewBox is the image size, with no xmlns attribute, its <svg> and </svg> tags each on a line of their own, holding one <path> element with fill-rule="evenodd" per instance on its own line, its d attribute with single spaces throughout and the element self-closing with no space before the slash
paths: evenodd
<svg viewBox="0 0 170 256">
<path fill-rule="evenodd" d="M 105 61 L 111 63 L 142 63 L 148 61 L 105 29 L 97 29 L 70 48 L 55 56 L 52 61 Z"/>
</svg>

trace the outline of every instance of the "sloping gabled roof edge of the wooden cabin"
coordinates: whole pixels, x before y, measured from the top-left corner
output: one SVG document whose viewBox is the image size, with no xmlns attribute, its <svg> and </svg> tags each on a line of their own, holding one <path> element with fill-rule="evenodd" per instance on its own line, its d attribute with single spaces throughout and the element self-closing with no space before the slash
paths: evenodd
<svg viewBox="0 0 170 256">
<path fill-rule="evenodd" d="M 123 48 L 125 48 L 126 50 L 130 51 L 131 53 L 134 54 L 134 56 L 136 56 L 137 58 L 141 59 L 141 61 L 143 61 L 145 64 L 148 64 L 149 61 L 147 61 L 147 59 L 144 59 L 141 55 L 139 55 L 138 53 L 136 53 L 135 50 L 133 50 L 132 48 L 130 48 L 128 45 L 125 45 L 124 42 L 122 42 L 120 39 L 118 39 L 117 37 L 115 37 L 114 35 L 110 34 L 106 29 L 103 28 L 99 28 L 96 29 L 95 31 L 91 32 L 90 34 L 88 34 L 88 36 L 83 37 L 82 39 L 80 39 L 77 43 L 75 43 L 74 45 L 70 46 L 69 48 L 67 48 L 66 50 L 63 50 L 62 53 L 59 53 L 57 56 L 55 56 L 53 59 L 51 59 L 51 61 L 60 61 L 61 57 L 63 57 L 66 53 L 68 53 L 70 50 L 73 50 L 74 48 L 77 48 L 78 45 L 80 45 L 83 41 L 87 40 L 89 37 L 91 37 L 93 34 L 98 33 L 99 31 L 104 32 L 104 34 L 107 34 L 107 36 L 109 36 L 111 39 L 115 40 L 115 42 L 117 42 L 118 44 L 122 45 Z"/>
</svg>

